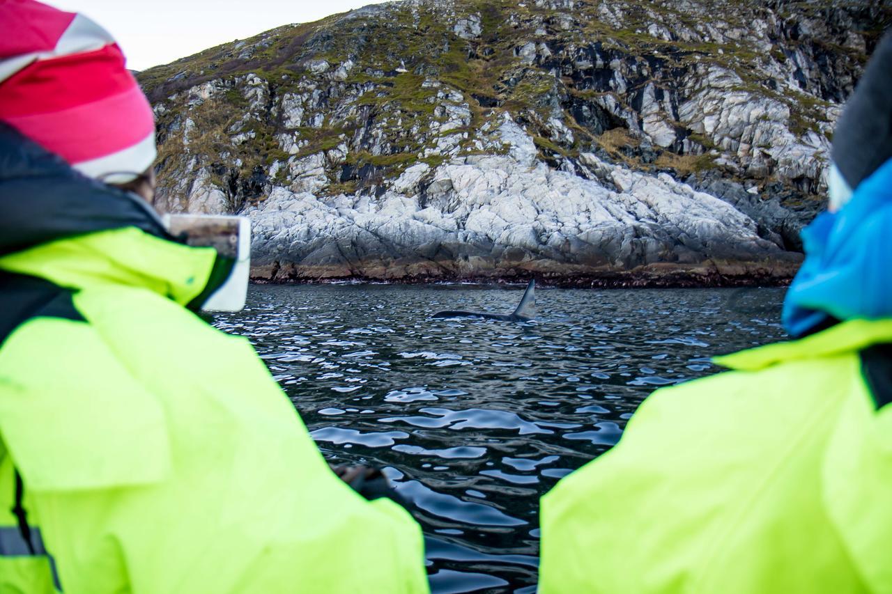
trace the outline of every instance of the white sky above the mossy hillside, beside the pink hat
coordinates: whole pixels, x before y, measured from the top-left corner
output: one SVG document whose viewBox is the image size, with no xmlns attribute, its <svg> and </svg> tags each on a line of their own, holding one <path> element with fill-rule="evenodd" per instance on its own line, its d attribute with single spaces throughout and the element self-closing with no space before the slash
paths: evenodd
<svg viewBox="0 0 892 594">
<path fill-rule="evenodd" d="M 145 70 L 280 25 L 318 21 L 383 0 L 43 0 L 111 32 L 127 67 Z"/>
</svg>

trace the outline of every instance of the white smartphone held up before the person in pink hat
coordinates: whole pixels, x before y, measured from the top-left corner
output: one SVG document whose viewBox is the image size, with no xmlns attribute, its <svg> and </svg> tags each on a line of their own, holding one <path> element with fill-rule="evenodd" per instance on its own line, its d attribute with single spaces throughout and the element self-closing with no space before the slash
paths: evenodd
<svg viewBox="0 0 892 594">
<path fill-rule="evenodd" d="M 207 311 L 244 308 L 251 274 L 251 220 L 227 215 L 166 214 L 162 217 L 170 235 L 186 245 L 212 247 L 235 265 L 223 285 L 202 304 Z"/>
</svg>

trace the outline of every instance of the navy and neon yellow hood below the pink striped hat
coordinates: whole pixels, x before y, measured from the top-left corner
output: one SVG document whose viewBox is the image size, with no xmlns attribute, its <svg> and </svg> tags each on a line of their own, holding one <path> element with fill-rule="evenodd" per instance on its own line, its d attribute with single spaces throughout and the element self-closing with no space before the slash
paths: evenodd
<svg viewBox="0 0 892 594">
<path fill-rule="evenodd" d="M 200 306 L 231 261 L 171 237 L 145 201 L 80 175 L 0 123 L 0 270 L 71 289 L 148 288 Z"/>
</svg>

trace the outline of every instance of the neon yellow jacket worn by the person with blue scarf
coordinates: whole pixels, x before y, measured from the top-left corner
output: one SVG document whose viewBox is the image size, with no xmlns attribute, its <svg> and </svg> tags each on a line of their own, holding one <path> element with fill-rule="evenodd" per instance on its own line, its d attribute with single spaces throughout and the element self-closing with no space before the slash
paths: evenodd
<svg viewBox="0 0 892 594">
<path fill-rule="evenodd" d="M 717 359 L 541 502 L 540 591 L 892 592 L 892 319 Z"/>
</svg>

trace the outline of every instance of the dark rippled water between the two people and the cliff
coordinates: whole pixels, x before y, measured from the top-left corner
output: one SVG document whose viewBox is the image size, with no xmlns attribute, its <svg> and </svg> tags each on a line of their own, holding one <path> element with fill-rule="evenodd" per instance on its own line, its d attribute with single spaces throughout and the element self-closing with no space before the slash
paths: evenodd
<svg viewBox="0 0 892 594">
<path fill-rule="evenodd" d="M 781 340 L 780 289 L 252 286 L 244 334 L 326 457 L 385 466 L 427 535 L 435 591 L 533 592 L 538 501 L 615 444 L 649 392 Z"/>
</svg>

